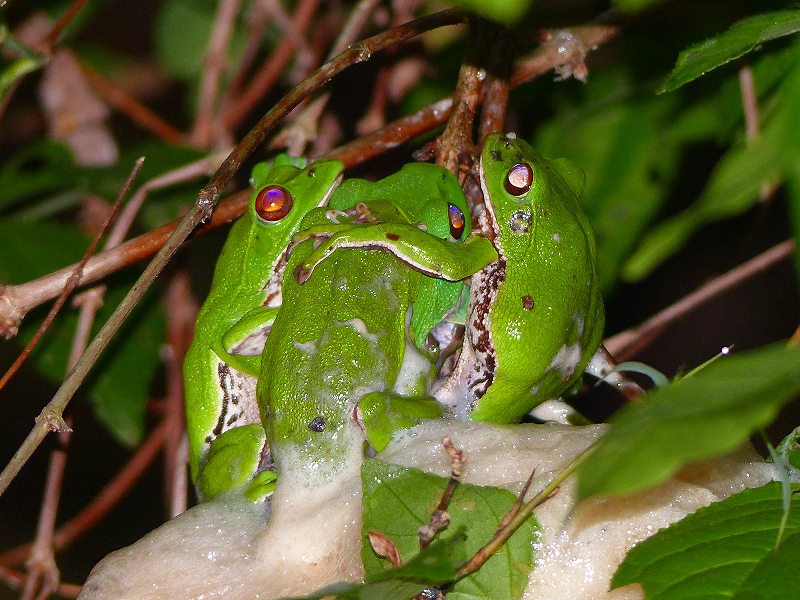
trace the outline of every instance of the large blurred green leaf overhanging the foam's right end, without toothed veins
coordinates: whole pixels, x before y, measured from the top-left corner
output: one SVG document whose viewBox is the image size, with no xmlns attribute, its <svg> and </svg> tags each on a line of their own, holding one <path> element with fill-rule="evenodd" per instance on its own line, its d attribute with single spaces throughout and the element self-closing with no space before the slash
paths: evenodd
<svg viewBox="0 0 800 600">
<path fill-rule="evenodd" d="M 733 355 L 625 406 L 579 471 L 582 498 L 628 494 L 741 446 L 800 393 L 800 347 Z"/>
</svg>

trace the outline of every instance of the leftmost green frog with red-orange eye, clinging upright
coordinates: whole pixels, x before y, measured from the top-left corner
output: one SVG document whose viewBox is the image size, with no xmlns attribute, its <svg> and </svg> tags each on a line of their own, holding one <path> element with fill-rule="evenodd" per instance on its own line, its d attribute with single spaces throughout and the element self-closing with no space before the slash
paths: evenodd
<svg viewBox="0 0 800 600">
<path fill-rule="evenodd" d="M 247 213 L 222 249 L 184 361 L 190 467 L 201 499 L 241 488 L 261 470 L 267 447 L 253 376 L 281 303 L 286 247 L 343 169 L 339 160 L 305 166 L 286 155 L 253 169 Z M 256 481 L 253 494 L 271 477 Z"/>
</svg>

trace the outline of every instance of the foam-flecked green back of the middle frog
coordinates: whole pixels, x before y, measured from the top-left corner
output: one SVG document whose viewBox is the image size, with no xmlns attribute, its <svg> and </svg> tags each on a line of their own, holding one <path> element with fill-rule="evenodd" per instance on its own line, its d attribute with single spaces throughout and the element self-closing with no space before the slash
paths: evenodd
<svg viewBox="0 0 800 600">
<path fill-rule="evenodd" d="M 361 249 L 334 253 L 301 286 L 290 274 L 312 247 L 301 244 L 287 266 L 258 396 L 270 443 L 313 448 L 313 462 L 363 442 L 352 440 L 356 403 L 394 385 L 412 290 L 396 258 Z M 280 470 L 280 452 L 275 460 Z"/>
</svg>

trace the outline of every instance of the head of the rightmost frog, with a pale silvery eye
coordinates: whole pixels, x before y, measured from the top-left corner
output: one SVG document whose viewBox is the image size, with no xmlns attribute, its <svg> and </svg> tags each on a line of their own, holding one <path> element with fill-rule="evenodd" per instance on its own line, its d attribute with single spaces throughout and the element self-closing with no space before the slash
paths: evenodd
<svg viewBox="0 0 800 600">
<path fill-rule="evenodd" d="M 481 225 L 501 256 L 523 256 L 543 243 L 537 239 L 543 220 L 586 227 L 578 205 L 584 174 L 571 160 L 544 158 L 514 134 L 492 134 L 483 147 L 480 175 L 486 208 Z"/>
</svg>

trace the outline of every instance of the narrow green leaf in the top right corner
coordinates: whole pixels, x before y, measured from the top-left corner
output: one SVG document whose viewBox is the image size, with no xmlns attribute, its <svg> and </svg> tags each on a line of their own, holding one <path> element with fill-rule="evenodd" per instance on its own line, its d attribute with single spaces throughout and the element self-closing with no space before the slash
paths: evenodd
<svg viewBox="0 0 800 600">
<path fill-rule="evenodd" d="M 800 31 L 800 11 L 764 13 L 734 23 L 728 31 L 680 53 L 675 68 L 661 87 L 669 92 L 734 59 L 758 44 Z"/>
</svg>

